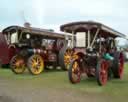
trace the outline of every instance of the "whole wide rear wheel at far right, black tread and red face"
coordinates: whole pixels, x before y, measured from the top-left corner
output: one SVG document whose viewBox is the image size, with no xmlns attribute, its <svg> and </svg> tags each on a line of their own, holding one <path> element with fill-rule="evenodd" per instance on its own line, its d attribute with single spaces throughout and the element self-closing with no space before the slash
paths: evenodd
<svg viewBox="0 0 128 102">
<path fill-rule="evenodd" d="M 122 78 L 124 70 L 124 55 L 123 53 L 116 52 L 114 54 L 114 61 L 113 61 L 113 75 L 115 78 Z"/>
</svg>

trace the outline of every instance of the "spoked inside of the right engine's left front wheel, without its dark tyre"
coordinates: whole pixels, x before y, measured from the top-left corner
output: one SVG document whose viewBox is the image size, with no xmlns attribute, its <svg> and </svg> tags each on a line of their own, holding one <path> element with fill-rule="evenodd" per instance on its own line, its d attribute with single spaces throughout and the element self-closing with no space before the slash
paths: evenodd
<svg viewBox="0 0 128 102">
<path fill-rule="evenodd" d="M 75 61 L 72 65 L 72 81 L 73 83 L 80 82 L 81 72 L 78 61 Z"/>
</svg>

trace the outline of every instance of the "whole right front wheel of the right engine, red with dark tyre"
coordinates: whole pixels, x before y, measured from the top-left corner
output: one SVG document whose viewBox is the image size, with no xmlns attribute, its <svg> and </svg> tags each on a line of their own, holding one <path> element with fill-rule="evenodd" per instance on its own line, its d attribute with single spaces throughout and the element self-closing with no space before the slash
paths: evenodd
<svg viewBox="0 0 128 102">
<path fill-rule="evenodd" d="M 97 63 L 96 67 L 96 79 L 100 86 L 107 83 L 108 80 L 108 63 L 107 61 L 101 59 Z"/>
</svg>

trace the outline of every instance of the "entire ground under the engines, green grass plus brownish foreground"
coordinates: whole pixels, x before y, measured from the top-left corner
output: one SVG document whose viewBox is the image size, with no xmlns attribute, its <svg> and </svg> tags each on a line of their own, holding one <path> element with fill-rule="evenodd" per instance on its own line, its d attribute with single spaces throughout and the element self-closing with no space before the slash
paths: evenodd
<svg viewBox="0 0 128 102">
<path fill-rule="evenodd" d="M 66 71 L 47 71 L 33 76 L 0 69 L 0 102 L 128 102 L 128 64 L 122 80 L 98 86 L 95 78 L 71 84 Z M 2 100 L 2 101 L 1 101 Z"/>
</svg>

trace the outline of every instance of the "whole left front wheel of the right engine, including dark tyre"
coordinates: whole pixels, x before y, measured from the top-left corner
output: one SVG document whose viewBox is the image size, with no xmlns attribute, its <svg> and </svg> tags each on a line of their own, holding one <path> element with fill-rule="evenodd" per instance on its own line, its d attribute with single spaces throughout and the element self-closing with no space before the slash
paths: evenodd
<svg viewBox="0 0 128 102">
<path fill-rule="evenodd" d="M 74 60 L 71 62 L 68 76 L 71 83 L 79 83 L 81 80 L 81 70 L 80 70 L 80 63 L 78 60 Z"/>
</svg>

